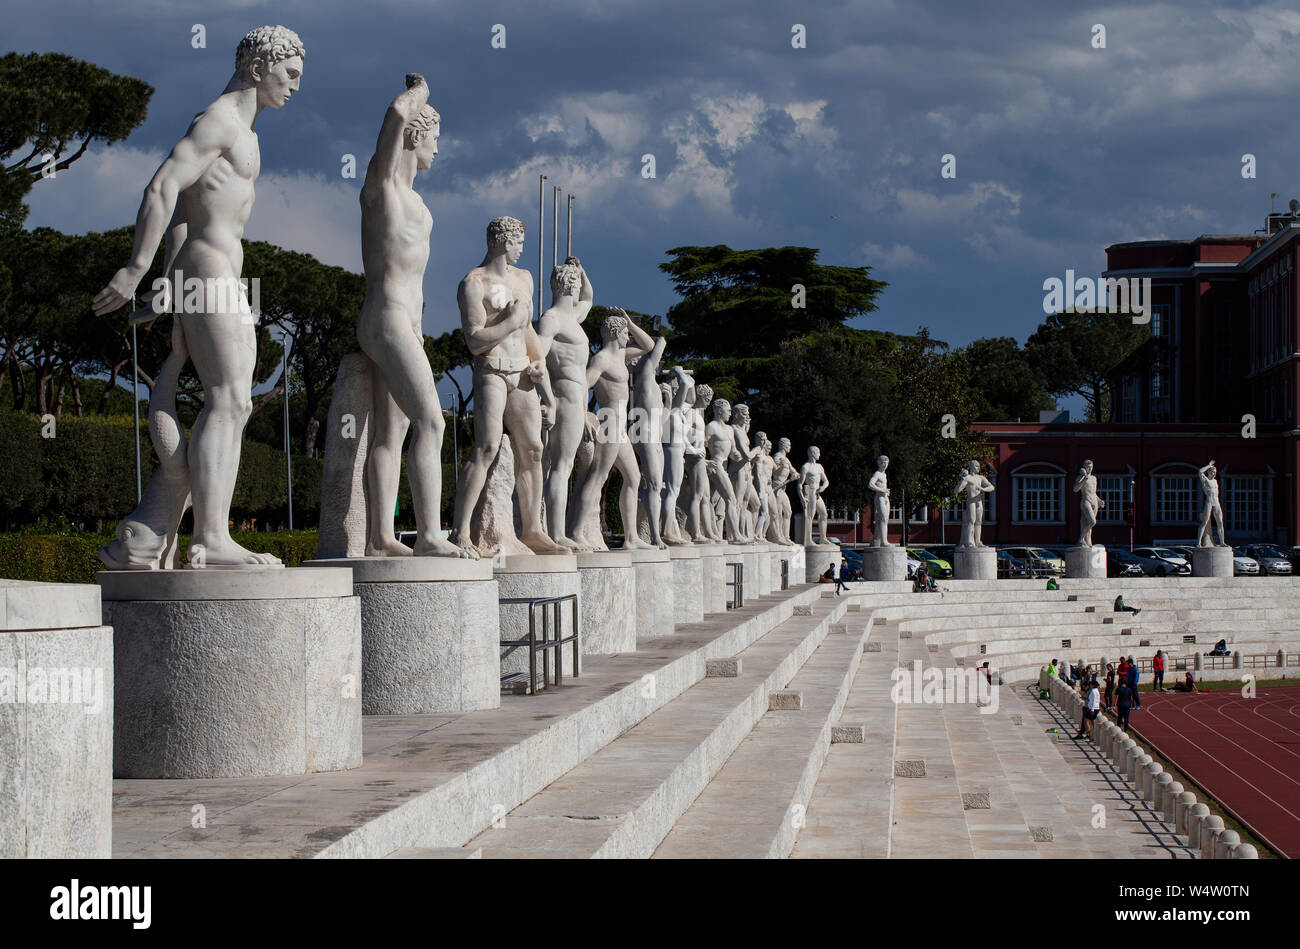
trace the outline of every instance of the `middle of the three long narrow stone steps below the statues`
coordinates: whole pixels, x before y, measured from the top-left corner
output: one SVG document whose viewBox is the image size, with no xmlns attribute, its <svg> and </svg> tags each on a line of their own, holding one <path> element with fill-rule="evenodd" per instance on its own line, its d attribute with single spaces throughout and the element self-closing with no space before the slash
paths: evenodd
<svg viewBox="0 0 1300 949">
<path fill-rule="evenodd" d="M 784 858 L 803 824 L 870 627 L 828 636 L 789 684 L 798 711 L 770 711 L 673 824 L 656 858 Z"/>
</svg>

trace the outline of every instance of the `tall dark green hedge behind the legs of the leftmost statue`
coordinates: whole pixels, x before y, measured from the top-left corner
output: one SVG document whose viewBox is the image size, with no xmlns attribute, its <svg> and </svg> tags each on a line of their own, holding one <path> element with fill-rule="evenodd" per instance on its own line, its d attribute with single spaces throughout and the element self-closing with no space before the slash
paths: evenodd
<svg viewBox="0 0 1300 949">
<path fill-rule="evenodd" d="M 140 420 L 144 480 L 153 467 L 147 422 Z M 52 434 L 52 437 L 43 437 Z M 294 456 L 294 521 L 320 516 L 321 462 Z M 131 416 L 64 415 L 47 429 L 40 416 L 0 411 L 0 517 L 4 526 L 51 523 L 112 526 L 135 507 L 135 441 Z M 287 520 L 285 452 L 244 442 L 230 506 L 235 521 Z"/>
</svg>

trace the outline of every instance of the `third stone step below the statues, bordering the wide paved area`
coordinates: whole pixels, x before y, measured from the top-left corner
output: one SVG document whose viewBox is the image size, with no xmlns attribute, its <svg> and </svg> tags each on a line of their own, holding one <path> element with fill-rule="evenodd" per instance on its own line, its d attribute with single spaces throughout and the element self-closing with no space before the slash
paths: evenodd
<svg viewBox="0 0 1300 949">
<path fill-rule="evenodd" d="M 862 742 L 829 748 L 809 798 L 792 858 L 880 859 L 889 855 L 893 820 L 894 723 L 890 693 L 898 667 L 898 627 L 870 627 L 868 646 L 853 680 L 841 724 L 864 723 Z"/>
</svg>

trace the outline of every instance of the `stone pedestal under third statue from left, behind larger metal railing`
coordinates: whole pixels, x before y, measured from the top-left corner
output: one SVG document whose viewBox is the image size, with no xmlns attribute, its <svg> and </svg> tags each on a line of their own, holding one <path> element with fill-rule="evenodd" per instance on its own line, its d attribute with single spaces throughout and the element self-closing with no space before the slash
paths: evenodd
<svg viewBox="0 0 1300 949">
<path fill-rule="evenodd" d="M 566 597 L 571 593 L 576 594 L 578 597 L 578 647 L 581 649 L 581 632 L 584 627 L 581 586 L 577 576 L 577 556 L 573 554 L 512 554 L 499 556 L 497 558 L 497 563 L 493 568 L 493 577 L 497 580 L 497 595 L 502 599 Z M 550 619 L 546 621 L 550 623 L 550 638 L 554 640 L 556 637 L 554 606 L 536 607 L 534 623 L 537 638 L 542 638 L 543 610 L 550 614 Z M 526 603 L 502 603 L 498 612 L 500 618 L 500 638 L 526 640 L 528 612 L 529 607 Z M 563 634 L 572 634 L 573 604 L 571 602 L 560 603 L 559 621 Z M 558 655 L 556 650 L 551 650 L 550 660 L 552 663 L 552 676 L 555 675 L 554 663 L 556 660 L 560 663 L 560 671 L 566 676 L 572 676 L 575 672 L 582 671 L 581 664 L 577 670 L 573 668 L 573 644 L 566 644 L 558 650 Z M 506 676 L 511 672 L 523 672 L 524 675 L 528 675 L 526 646 L 500 647 L 500 675 Z M 542 688 L 541 654 L 537 656 L 537 682 L 538 688 Z"/>
</svg>

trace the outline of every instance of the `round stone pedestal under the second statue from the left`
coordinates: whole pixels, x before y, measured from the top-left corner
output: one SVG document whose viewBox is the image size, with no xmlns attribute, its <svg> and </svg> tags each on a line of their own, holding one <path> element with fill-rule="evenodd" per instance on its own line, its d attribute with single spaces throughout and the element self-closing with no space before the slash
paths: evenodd
<svg viewBox="0 0 1300 949">
<path fill-rule="evenodd" d="M 361 556 L 361 712 L 429 715 L 500 706 L 500 636 L 491 560 Z"/>
</svg>

